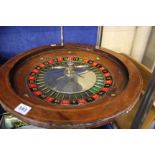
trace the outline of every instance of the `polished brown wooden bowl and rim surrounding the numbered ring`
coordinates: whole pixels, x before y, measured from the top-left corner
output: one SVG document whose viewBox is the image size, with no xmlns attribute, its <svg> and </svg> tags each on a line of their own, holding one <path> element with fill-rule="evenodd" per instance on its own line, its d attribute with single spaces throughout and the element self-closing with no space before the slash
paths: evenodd
<svg viewBox="0 0 155 155">
<path fill-rule="evenodd" d="M 69 52 L 71 51 L 71 53 Z M 115 80 L 112 90 L 92 104 L 77 107 L 50 105 L 37 99 L 26 87 L 25 79 L 30 70 L 49 57 L 82 56 L 103 64 Z M 65 44 L 44 46 L 26 51 L 10 59 L 0 68 L 0 102 L 11 114 L 26 123 L 44 128 L 90 128 L 100 126 L 119 115 L 129 112 L 141 94 L 141 74 L 132 61 L 108 49 L 94 46 Z M 29 97 L 25 97 L 27 93 Z M 116 96 L 111 96 L 115 93 Z M 32 109 L 27 115 L 14 111 L 20 103 Z"/>
</svg>

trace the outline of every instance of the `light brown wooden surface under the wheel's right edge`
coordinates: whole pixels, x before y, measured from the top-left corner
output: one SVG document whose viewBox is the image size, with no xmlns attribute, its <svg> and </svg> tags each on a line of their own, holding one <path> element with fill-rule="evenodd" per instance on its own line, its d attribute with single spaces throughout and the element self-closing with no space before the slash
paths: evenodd
<svg viewBox="0 0 155 155">
<path fill-rule="evenodd" d="M 142 89 L 142 94 L 140 99 L 138 100 L 136 106 L 126 115 L 118 117 L 115 122 L 118 125 L 119 128 L 122 129 L 129 129 L 131 127 L 131 124 L 135 118 L 136 112 L 138 110 L 138 108 L 141 105 L 141 100 L 143 98 L 143 95 L 145 93 L 145 90 L 147 88 L 148 82 L 150 80 L 151 77 L 151 70 L 148 69 L 146 66 L 144 66 L 143 64 L 138 63 L 136 60 L 134 60 L 132 57 L 122 54 L 123 56 L 127 57 L 128 59 L 130 59 L 139 69 L 139 71 L 141 72 L 142 78 L 143 78 L 143 89 Z M 142 125 L 140 128 L 143 129 L 147 129 L 150 128 L 151 124 L 153 123 L 153 121 L 155 120 L 155 107 L 152 106 L 151 109 L 149 110 L 148 114 L 146 115 L 144 121 L 142 122 Z"/>
</svg>

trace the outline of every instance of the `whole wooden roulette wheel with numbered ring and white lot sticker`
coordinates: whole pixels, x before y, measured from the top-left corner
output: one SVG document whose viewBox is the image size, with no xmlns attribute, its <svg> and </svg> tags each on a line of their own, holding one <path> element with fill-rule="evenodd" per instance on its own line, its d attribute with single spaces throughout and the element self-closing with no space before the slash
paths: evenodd
<svg viewBox="0 0 155 155">
<path fill-rule="evenodd" d="M 0 103 L 43 128 L 94 128 L 129 112 L 142 90 L 125 56 L 90 45 L 47 45 L 0 68 Z"/>
</svg>

